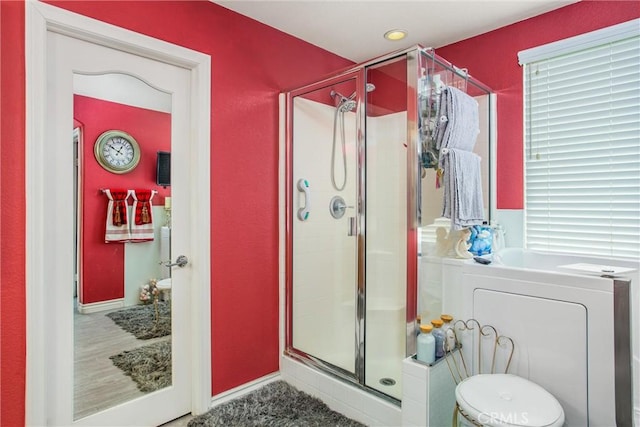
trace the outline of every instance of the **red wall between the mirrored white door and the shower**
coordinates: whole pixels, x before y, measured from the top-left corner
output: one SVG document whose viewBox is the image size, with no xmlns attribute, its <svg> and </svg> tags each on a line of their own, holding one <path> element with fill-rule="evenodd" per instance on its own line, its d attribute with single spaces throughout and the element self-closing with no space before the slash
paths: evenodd
<svg viewBox="0 0 640 427">
<path fill-rule="evenodd" d="M 209 1 L 55 5 L 211 55 L 215 394 L 278 370 L 278 93 L 351 63 Z"/>
</svg>

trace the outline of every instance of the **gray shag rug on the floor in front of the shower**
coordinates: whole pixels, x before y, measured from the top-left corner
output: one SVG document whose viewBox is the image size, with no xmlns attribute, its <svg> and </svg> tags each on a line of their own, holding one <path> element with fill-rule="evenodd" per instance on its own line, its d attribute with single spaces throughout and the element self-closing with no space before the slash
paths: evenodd
<svg viewBox="0 0 640 427">
<path fill-rule="evenodd" d="M 364 427 L 321 400 L 275 381 L 193 418 L 188 427 Z"/>
</svg>

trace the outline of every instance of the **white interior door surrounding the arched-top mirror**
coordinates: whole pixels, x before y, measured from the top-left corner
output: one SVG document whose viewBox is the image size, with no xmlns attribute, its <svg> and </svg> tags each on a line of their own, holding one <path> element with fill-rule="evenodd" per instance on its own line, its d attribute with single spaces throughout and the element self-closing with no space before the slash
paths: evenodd
<svg viewBox="0 0 640 427">
<path fill-rule="evenodd" d="M 49 123 L 52 135 L 58 130 L 62 131 L 62 128 L 66 128 L 64 132 L 67 133 L 69 124 L 72 123 L 72 120 L 68 120 L 66 116 L 69 111 L 72 111 L 72 109 L 68 109 L 67 102 L 71 99 L 70 95 L 73 94 L 72 80 L 74 72 L 84 74 L 116 72 L 136 76 L 152 86 L 171 94 L 172 145 L 175 147 L 172 150 L 172 153 L 174 153 L 173 169 L 176 172 L 182 171 L 182 174 L 189 170 L 188 158 L 181 155 L 181 150 L 179 149 L 180 135 L 186 135 L 189 132 L 189 72 L 187 70 L 56 33 L 49 33 L 48 47 L 50 52 L 56 52 L 56 55 L 50 57 L 49 75 L 53 76 L 57 83 L 51 86 L 51 96 L 47 98 L 47 111 L 50 117 Z M 71 82 L 71 87 L 69 87 L 69 82 Z M 67 124 L 67 126 L 60 126 L 60 124 Z M 87 143 L 90 143 L 90 141 L 87 141 Z M 62 147 L 59 149 L 65 151 Z M 71 159 L 72 155 L 65 157 Z M 87 159 L 87 161 L 91 160 Z M 62 160 L 60 163 L 62 166 Z M 61 169 L 64 170 L 62 167 Z M 62 188 L 73 188 L 72 185 L 67 186 L 64 183 L 66 180 L 64 177 L 60 178 L 59 185 Z M 189 209 L 189 191 L 183 187 L 186 184 L 188 184 L 188 179 L 180 179 L 180 173 L 174 175 L 172 200 L 175 202 L 176 211 Z M 68 217 L 69 219 L 73 217 L 73 213 L 68 211 L 68 207 L 58 205 L 58 209 L 63 217 Z M 184 219 L 188 216 L 184 212 L 183 214 L 176 212 L 173 218 L 173 254 L 190 255 L 189 233 L 184 222 Z M 64 249 L 67 244 L 67 242 L 59 242 L 60 253 L 69 253 Z M 72 266 L 72 263 L 62 260 L 61 269 L 62 264 Z M 77 424 L 112 425 L 115 423 L 118 425 L 137 425 L 138 422 L 159 423 L 190 412 L 191 378 L 187 317 L 190 299 L 189 273 L 190 269 L 188 267 L 174 268 L 172 273 L 171 386 L 77 420 Z M 70 376 L 66 370 L 59 369 L 61 366 L 60 361 L 73 360 L 73 342 L 70 343 L 71 345 L 63 345 L 63 342 L 68 339 L 69 331 L 73 330 L 73 325 L 68 327 L 67 321 L 65 321 L 69 317 L 68 313 L 73 313 L 74 309 L 73 306 L 69 306 L 72 301 L 70 295 L 63 296 L 66 293 L 63 290 L 67 288 L 67 286 L 61 287 L 55 293 L 56 302 L 51 309 L 53 317 L 60 320 L 59 323 L 52 324 L 52 330 L 47 334 L 52 338 L 51 348 L 55 349 L 54 353 L 56 354 L 56 357 L 50 358 L 49 371 L 53 374 L 53 383 L 58 385 L 55 387 L 55 391 L 52 389 L 50 398 L 52 401 L 60 401 L 60 404 L 56 404 L 54 423 L 63 425 L 73 421 L 73 418 L 69 418 L 69 408 L 73 407 L 73 404 L 70 404 L 72 400 L 68 397 L 68 390 L 71 387 L 69 387 L 67 381 Z M 73 374 L 71 378 L 73 378 Z M 65 386 L 60 387 L 63 384 Z M 139 421 L 136 422 L 135 418 L 138 418 Z"/>
</svg>

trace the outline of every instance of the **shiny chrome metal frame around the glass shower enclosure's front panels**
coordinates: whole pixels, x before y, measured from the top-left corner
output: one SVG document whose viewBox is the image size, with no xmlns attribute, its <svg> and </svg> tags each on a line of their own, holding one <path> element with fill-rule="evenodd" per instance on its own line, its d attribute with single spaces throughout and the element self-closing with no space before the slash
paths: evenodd
<svg viewBox="0 0 640 427">
<path fill-rule="evenodd" d="M 407 58 L 407 282 L 406 282 L 406 345 L 405 357 L 415 353 L 415 318 L 417 311 L 418 288 L 418 227 L 421 223 L 421 146 L 418 135 L 418 97 L 417 85 L 420 76 L 419 55 L 424 52 L 422 46 L 416 45 L 408 49 L 391 52 L 370 61 L 338 71 L 331 77 L 318 82 L 293 89 L 285 93 L 285 348 L 286 355 L 307 365 L 318 367 L 326 372 L 346 380 L 368 392 L 378 395 L 394 403 L 399 401 L 365 384 L 365 313 L 366 313 L 366 71 L 367 67 L 380 64 L 395 58 Z M 357 322 L 355 337 L 355 375 L 337 366 L 293 347 L 292 325 L 292 291 L 293 291 L 293 99 L 298 95 L 314 90 L 356 79 L 356 128 L 357 128 Z"/>
</svg>

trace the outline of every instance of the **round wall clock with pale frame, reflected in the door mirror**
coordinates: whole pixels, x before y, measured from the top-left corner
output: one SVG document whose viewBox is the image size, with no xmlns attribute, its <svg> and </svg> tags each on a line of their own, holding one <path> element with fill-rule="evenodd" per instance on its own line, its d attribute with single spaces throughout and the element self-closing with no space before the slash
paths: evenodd
<svg viewBox="0 0 640 427">
<path fill-rule="evenodd" d="M 93 152 L 100 166 L 112 173 L 131 172 L 140 161 L 140 146 L 121 130 L 109 130 L 100 135 Z"/>
</svg>

